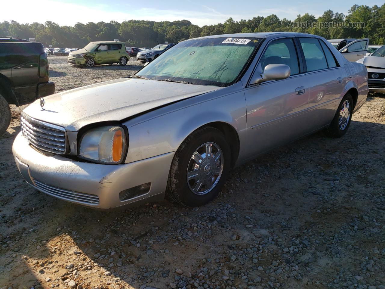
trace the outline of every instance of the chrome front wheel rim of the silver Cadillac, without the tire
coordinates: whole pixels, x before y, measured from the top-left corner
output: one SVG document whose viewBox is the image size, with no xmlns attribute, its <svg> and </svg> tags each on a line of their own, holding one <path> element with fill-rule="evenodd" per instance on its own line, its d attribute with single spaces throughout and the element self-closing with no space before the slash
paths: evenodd
<svg viewBox="0 0 385 289">
<path fill-rule="evenodd" d="M 196 195 L 205 195 L 218 183 L 223 171 L 223 153 L 216 143 L 204 143 L 187 166 L 187 184 Z"/>
</svg>

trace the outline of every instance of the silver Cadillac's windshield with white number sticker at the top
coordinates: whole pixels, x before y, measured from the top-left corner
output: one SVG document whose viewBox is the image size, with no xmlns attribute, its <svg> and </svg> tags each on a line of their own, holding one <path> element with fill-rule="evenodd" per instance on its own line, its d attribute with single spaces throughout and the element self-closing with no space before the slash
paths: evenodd
<svg viewBox="0 0 385 289">
<path fill-rule="evenodd" d="M 153 80 L 228 86 L 243 72 L 261 38 L 218 37 L 183 41 L 143 67 L 137 75 Z"/>
</svg>

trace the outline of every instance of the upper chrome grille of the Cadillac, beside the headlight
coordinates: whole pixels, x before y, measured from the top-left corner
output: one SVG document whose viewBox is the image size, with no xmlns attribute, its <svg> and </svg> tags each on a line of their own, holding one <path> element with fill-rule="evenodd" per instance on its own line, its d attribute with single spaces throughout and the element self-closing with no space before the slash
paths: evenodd
<svg viewBox="0 0 385 289">
<path fill-rule="evenodd" d="M 33 119 L 25 113 L 20 116 L 23 136 L 40 150 L 63 155 L 67 150 L 65 129 L 61 126 Z"/>
</svg>

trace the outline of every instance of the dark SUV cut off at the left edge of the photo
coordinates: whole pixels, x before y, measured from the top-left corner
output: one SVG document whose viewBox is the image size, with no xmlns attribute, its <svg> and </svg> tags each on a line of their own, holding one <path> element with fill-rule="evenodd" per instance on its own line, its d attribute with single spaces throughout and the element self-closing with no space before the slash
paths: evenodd
<svg viewBox="0 0 385 289">
<path fill-rule="evenodd" d="M 43 44 L 0 40 L 0 135 L 10 124 L 10 104 L 21 106 L 54 92 Z"/>
</svg>

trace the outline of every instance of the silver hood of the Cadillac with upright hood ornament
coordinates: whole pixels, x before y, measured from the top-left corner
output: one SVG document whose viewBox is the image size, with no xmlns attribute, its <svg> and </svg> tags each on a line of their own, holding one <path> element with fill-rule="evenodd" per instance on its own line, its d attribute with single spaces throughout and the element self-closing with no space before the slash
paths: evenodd
<svg viewBox="0 0 385 289">
<path fill-rule="evenodd" d="M 221 89 L 168 81 L 120 78 L 79 87 L 39 99 L 24 109 L 30 117 L 78 131 L 87 124 L 120 121 L 188 97 Z"/>
</svg>

